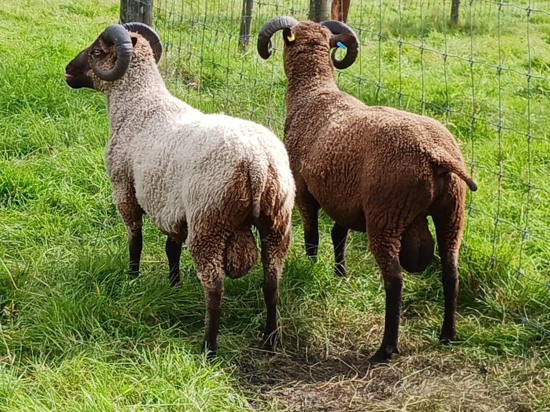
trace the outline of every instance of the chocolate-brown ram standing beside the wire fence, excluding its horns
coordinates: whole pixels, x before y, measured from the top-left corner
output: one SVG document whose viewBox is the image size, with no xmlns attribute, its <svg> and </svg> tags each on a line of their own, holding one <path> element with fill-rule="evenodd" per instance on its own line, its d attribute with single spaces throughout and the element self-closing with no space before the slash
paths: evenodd
<svg viewBox="0 0 550 412">
<path fill-rule="evenodd" d="M 296 181 L 306 249 L 316 253 L 318 207 L 344 228 L 333 230 L 333 239 L 340 243 L 343 235 L 345 242 L 345 229 L 368 232 L 386 289 L 386 328 L 372 360 L 389 359 L 399 353 L 400 266 L 423 271 L 432 260 L 434 243 L 426 219 L 432 215 L 445 257 L 442 339 L 454 339 L 464 182 L 472 191 L 477 189 L 467 176 L 458 144 L 437 120 L 369 107 L 338 90 L 329 57 L 333 36 L 326 27 L 305 21 L 290 31 L 294 41 L 283 35 L 288 77 L 284 144 Z M 335 254 L 343 264 L 343 252 Z"/>
</svg>

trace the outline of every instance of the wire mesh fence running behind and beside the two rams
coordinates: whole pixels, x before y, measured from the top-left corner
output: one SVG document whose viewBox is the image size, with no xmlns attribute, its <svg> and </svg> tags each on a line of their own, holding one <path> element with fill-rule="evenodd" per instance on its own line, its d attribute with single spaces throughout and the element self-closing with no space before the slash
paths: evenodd
<svg viewBox="0 0 550 412">
<path fill-rule="evenodd" d="M 258 121 L 282 137 L 283 43 L 275 35 L 264 61 L 257 33 L 276 15 L 307 19 L 309 1 L 245 6 L 155 0 L 160 66 L 190 104 Z M 451 8 L 451 0 L 352 0 L 347 23 L 360 53 L 335 76 L 367 104 L 449 128 L 480 187 L 467 195 L 461 274 L 481 299 L 550 334 L 550 3 L 463 0 L 456 24 Z M 243 10 L 251 16 L 246 49 Z"/>
</svg>

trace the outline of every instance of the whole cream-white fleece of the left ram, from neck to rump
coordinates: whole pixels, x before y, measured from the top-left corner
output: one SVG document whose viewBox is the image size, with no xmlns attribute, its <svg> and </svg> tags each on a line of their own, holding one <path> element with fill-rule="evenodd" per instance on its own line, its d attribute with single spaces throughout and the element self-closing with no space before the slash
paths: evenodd
<svg viewBox="0 0 550 412">
<path fill-rule="evenodd" d="M 140 39 L 141 41 L 142 39 Z M 137 49 L 137 50 L 136 50 Z M 248 165 L 254 213 L 276 171 L 279 191 L 292 210 L 294 179 L 283 143 L 266 127 L 224 114 L 205 114 L 172 96 L 152 58 L 139 47 L 123 79 L 106 91 L 111 136 L 105 163 L 113 202 L 135 188 L 140 207 L 164 233 L 222 207 L 239 164 Z M 139 81 L 138 81 L 139 79 Z"/>
</svg>

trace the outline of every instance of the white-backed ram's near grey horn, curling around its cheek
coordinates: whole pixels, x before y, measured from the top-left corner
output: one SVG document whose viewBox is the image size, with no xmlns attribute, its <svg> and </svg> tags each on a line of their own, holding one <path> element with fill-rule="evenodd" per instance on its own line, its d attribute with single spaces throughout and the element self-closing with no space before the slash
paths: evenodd
<svg viewBox="0 0 550 412">
<path fill-rule="evenodd" d="M 130 34 L 120 24 L 108 26 L 101 34 L 103 41 L 114 44 L 117 51 L 117 61 L 110 70 L 97 67 L 92 63 L 92 70 L 101 80 L 114 81 L 120 79 L 128 70 L 130 59 L 132 58 L 133 46 Z"/>
</svg>

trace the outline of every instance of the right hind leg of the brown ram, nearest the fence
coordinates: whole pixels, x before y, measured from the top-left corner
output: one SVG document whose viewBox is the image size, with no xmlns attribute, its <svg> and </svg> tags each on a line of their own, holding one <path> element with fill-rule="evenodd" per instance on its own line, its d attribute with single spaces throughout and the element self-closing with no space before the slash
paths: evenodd
<svg viewBox="0 0 550 412">
<path fill-rule="evenodd" d="M 450 177 L 447 193 L 432 205 L 431 215 L 436 227 L 437 245 L 441 255 L 445 313 L 439 340 L 456 341 L 456 297 L 458 296 L 458 258 L 464 227 L 464 183 Z"/>
</svg>

